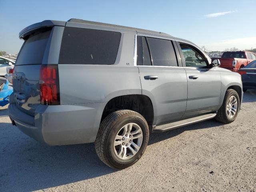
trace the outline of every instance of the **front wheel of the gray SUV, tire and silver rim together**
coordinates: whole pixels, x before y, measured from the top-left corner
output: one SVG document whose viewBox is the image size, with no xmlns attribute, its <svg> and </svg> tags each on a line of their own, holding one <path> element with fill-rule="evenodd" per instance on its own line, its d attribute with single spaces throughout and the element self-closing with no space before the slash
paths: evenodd
<svg viewBox="0 0 256 192">
<path fill-rule="evenodd" d="M 240 109 L 240 98 L 234 89 L 226 91 L 222 106 L 217 112 L 215 119 L 222 123 L 233 122 Z"/>
</svg>

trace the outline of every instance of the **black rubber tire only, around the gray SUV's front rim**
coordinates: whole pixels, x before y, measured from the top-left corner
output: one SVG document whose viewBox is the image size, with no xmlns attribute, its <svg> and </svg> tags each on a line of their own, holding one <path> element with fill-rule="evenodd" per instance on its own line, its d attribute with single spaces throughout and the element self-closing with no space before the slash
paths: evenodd
<svg viewBox="0 0 256 192">
<path fill-rule="evenodd" d="M 228 113 L 227 113 L 227 111 L 226 111 L 227 103 L 228 103 L 228 100 L 229 100 L 229 98 L 230 98 L 231 96 L 235 96 L 235 97 L 236 97 L 236 100 L 237 100 L 237 110 L 236 110 L 236 114 L 235 114 L 234 117 L 232 117 L 232 118 L 230 118 L 230 117 L 228 116 Z M 222 106 L 221 106 L 220 109 L 218 110 L 215 119 L 216 119 L 217 121 L 222 122 L 222 123 L 225 123 L 225 124 L 232 123 L 232 122 L 236 119 L 239 110 L 240 110 L 240 98 L 239 98 L 239 95 L 238 95 L 238 93 L 237 93 L 234 89 L 229 89 L 229 90 L 226 91 L 226 94 L 225 94 L 225 97 L 224 97 Z"/>
</svg>

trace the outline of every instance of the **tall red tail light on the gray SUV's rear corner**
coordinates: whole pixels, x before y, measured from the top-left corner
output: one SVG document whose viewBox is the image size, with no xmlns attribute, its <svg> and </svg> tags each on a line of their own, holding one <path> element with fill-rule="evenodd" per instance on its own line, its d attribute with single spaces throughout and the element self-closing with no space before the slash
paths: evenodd
<svg viewBox="0 0 256 192">
<path fill-rule="evenodd" d="M 42 105 L 60 104 L 58 65 L 42 64 L 39 76 L 40 102 Z"/>
</svg>

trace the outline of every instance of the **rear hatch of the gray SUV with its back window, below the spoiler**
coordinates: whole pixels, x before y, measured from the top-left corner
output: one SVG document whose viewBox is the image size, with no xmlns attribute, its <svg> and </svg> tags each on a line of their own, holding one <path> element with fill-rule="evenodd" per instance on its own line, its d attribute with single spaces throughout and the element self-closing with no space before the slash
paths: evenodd
<svg viewBox="0 0 256 192">
<path fill-rule="evenodd" d="M 25 39 L 16 60 L 13 74 L 14 100 L 20 110 L 32 116 L 40 104 L 40 67 L 48 63 L 50 54 L 54 54 L 50 51 L 50 44 L 57 28 L 60 27 L 39 28 L 34 31 Z"/>
</svg>

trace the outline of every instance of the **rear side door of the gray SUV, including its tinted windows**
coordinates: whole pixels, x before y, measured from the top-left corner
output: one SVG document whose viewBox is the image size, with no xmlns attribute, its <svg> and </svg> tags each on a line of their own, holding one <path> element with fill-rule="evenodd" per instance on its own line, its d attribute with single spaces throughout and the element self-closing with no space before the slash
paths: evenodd
<svg viewBox="0 0 256 192">
<path fill-rule="evenodd" d="M 137 36 L 136 60 L 142 94 L 153 102 L 156 125 L 179 119 L 186 111 L 186 71 L 175 49 L 178 51 L 171 39 Z"/>
</svg>

